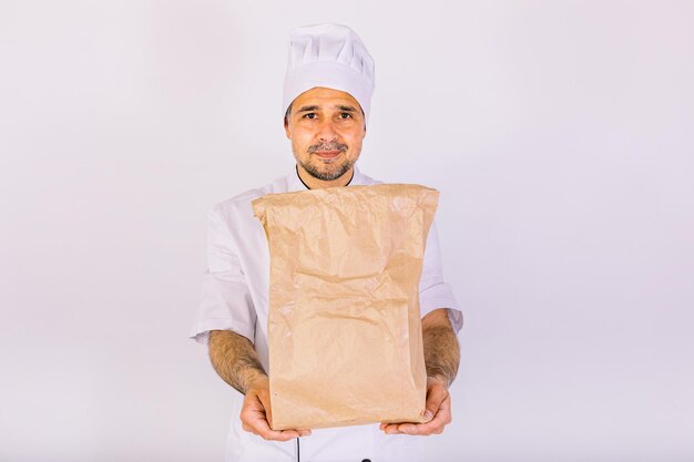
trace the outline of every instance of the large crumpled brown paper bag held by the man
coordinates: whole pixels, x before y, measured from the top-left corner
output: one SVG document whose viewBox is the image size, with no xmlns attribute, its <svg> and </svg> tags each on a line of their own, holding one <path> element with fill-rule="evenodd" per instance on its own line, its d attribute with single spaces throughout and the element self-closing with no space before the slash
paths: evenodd
<svg viewBox="0 0 694 462">
<path fill-rule="evenodd" d="M 253 202 L 271 255 L 273 429 L 423 421 L 418 286 L 438 197 L 375 185 Z"/>
</svg>

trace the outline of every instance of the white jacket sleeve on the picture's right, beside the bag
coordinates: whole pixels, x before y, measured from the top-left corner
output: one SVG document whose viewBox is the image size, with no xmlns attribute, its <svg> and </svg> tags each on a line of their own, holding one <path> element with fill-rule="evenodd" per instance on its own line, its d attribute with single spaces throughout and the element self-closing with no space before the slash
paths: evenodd
<svg viewBox="0 0 694 462">
<path fill-rule="evenodd" d="M 438 308 L 448 308 L 448 317 L 456 332 L 462 327 L 462 311 L 456 300 L 451 287 L 443 280 L 441 269 L 441 249 L 436 230 L 436 223 L 431 224 L 425 259 L 419 279 L 419 309 L 421 317 Z"/>
</svg>

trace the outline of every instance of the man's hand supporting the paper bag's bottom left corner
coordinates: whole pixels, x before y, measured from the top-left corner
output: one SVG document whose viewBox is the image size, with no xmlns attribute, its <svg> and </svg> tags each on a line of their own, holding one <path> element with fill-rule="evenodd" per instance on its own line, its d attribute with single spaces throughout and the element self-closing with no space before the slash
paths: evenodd
<svg viewBox="0 0 694 462">
<path fill-rule="evenodd" d="M 246 391 L 241 422 L 247 432 L 257 434 L 265 440 L 289 441 L 299 437 L 308 437 L 310 430 L 273 430 L 269 428 L 272 419 L 269 407 L 269 380 L 267 376 L 255 379 Z"/>
</svg>

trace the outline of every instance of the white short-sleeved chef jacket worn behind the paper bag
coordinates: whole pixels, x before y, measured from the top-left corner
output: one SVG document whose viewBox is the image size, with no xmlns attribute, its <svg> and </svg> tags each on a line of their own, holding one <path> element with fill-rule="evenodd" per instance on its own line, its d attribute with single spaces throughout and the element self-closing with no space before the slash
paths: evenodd
<svg viewBox="0 0 694 462">
<path fill-rule="evenodd" d="M 355 167 L 349 185 L 377 182 Z M 207 271 L 202 301 L 191 338 L 206 345 L 211 330 L 233 330 L 254 345 L 261 363 L 268 370 L 267 315 L 269 296 L 269 251 L 265 230 L 253 215 L 251 202 L 266 194 L 306 191 L 296 170 L 267 186 L 251 189 L 216 205 L 210 212 Z M 419 283 L 421 316 L 450 308 L 456 331 L 462 326 L 460 307 L 441 274 L 441 258 L 436 226 L 427 238 Z M 243 396 L 234 392 L 232 425 L 227 439 L 227 462 L 297 461 L 371 462 L 423 461 L 421 437 L 386 435 L 378 424 L 313 430 L 309 437 L 288 442 L 265 441 L 242 429 L 239 413 Z"/>
</svg>

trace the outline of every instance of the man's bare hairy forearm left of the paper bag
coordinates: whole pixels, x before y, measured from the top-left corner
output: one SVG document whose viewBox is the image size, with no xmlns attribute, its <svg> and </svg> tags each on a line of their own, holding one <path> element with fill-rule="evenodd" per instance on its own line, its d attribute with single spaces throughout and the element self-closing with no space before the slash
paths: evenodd
<svg viewBox="0 0 694 462">
<path fill-rule="evenodd" d="M 251 340 L 231 330 L 210 332 L 210 360 L 222 380 L 246 394 L 251 383 L 266 379 Z"/>
</svg>

